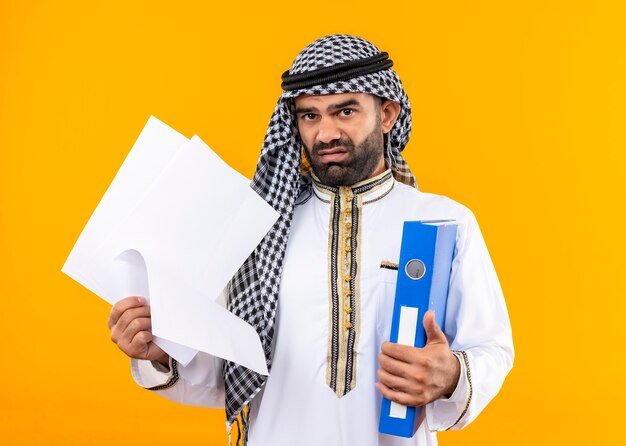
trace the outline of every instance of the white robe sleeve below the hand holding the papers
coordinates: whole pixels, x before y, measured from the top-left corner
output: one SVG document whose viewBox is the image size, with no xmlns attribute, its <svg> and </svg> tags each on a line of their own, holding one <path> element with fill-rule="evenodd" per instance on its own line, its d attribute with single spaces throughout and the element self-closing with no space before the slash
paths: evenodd
<svg viewBox="0 0 626 446">
<path fill-rule="evenodd" d="M 168 400 L 200 407 L 224 407 L 223 360 L 199 352 L 182 366 L 170 358 L 169 367 L 131 359 L 135 382 Z"/>
</svg>

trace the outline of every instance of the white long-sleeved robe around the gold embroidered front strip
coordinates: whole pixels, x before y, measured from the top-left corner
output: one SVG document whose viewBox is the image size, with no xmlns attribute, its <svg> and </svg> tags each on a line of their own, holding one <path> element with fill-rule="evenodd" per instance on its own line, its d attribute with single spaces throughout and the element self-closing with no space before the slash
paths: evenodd
<svg viewBox="0 0 626 446">
<path fill-rule="evenodd" d="M 359 320 L 353 355 L 348 353 L 351 388 L 338 395 L 328 383 L 334 305 L 329 299 L 329 265 L 335 249 L 329 240 L 331 217 L 338 208 L 331 209 L 336 203 L 333 191 L 313 187 L 312 196 L 296 208 L 292 221 L 272 369 L 251 403 L 250 446 L 435 445 L 436 431 L 460 429 L 476 418 L 512 366 L 506 305 L 473 214 L 446 197 L 398 183 L 387 172 L 364 183 L 373 181 L 379 184 L 348 197 L 358 195 L 361 200 L 354 220 L 360 232 L 358 256 L 353 258 L 358 260 L 358 303 L 352 310 L 359 312 Z M 379 434 L 377 357 L 382 342 L 389 339 L 397 276 L 388 266 L 398 263 L 405 221 L 442 219 L 458 224 L 444 331 L 451 349 L 465 352 L 467 363 L 459 361 L 461 374 L 451 397 L 426 405 L 425 421 L 413 438 Z M 185 404 L 222 407 L 221 366 L 221 360 L 200 353 L 188 366 L 178 365 L 177 382 L 158 393 Z M 147 361 L 133 361 L 132 368 L 144 387 L 163 384 L 169 377 Z"/>
</svg>

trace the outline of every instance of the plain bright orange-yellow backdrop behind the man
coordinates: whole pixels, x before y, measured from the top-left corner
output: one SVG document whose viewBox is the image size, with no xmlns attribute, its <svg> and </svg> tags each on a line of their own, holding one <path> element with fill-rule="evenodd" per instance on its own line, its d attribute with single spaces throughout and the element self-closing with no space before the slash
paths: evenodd
<svg viewBox="0 0 626 446">
<path fill-rule="evenodd" d="M 280 74 L 345 32 L 396 62 L 409 164 L 474 211 L 511 315 L 503 390 L 441 444 L 621 443 L 623 2 L 210 3 L 0 3 L 0 442 L 225 444 L 222 411 L 133 383 L 60 269 L 149 115 L 250 176 Z"/>
</svg>

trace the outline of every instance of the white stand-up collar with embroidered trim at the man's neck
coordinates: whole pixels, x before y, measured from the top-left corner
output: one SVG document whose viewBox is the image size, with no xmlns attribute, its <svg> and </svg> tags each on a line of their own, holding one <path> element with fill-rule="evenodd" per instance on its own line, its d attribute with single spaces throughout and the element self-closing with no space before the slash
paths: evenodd
<svg viewBox="0 0 626 446">
<path fill-rule="evenodd" d="M 335 195 L 358 196 L 362 199 L 363 204 L 372 203 L 391 192 L 395 183 L 391 169 L 387 169 L 375 177 L 360 181 L 352 186 L 328 186 L 321 183 L 319 178 L 313 173 L 311 173 L 311 180 L 313 193 L 319 200 L 325 203 L 330 203 Z"/>
</svg>

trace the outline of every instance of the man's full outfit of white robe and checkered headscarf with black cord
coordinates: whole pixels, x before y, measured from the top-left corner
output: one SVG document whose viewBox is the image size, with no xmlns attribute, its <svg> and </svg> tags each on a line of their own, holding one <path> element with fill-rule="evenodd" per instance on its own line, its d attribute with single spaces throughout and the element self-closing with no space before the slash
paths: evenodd
<svg viewBox="0 0 626 446">
<path fill-rule="evenodd" d="M 227 288 L 229 310 L 259 334 L 269 377 L 231 362 L 222 375 L 221 360 L 200 354 L 184 371 L 172 362 L 167 380 L 134 361 L 140 384 L 209 407 L 223 395 L 228 429 L 239 417 L 244 442 L 272 446 L 433 445 L 430 430 L 463 427 L 498 392 L 513 348 L 497 276 L 471 212 L 417 190 L 401 156 L 411 106 L 392 64 L 364 39 L 332 35 L 307 46 L 283 74 L 251 184 L 280 217 Z M 303 174 L 293 99 L 353 92 L 401 106 L 385 135 L 388 170 L 332 187 Z M 429 219 L 459 224 L 446 335 L 461 378 L 450 398 L 427 405 L 416 436 L 400 439 L 377 433 L 376 358 L 389 339 L 402 223 Z"/>
</svg>

